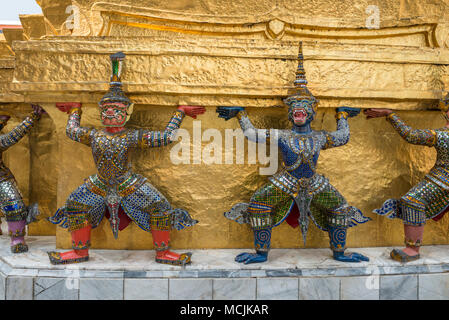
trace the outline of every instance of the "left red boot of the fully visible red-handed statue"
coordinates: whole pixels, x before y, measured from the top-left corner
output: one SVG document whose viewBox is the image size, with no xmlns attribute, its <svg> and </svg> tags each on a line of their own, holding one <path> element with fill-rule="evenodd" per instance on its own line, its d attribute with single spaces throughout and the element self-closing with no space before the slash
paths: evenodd
<svg viewBox="0 0 449 320">
<path fill-rule="evenodd" d="M 90 231 L 92 227 L 72 231 L 72 248 L 67 252 L 48 252 L 51 264 L 69 264 L 89 260 Z"/>
</svg>

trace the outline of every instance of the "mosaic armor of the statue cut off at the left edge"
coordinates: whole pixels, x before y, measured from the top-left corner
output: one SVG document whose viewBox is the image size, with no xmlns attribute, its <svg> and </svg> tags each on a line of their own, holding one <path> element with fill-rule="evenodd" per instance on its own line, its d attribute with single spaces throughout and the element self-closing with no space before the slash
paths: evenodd
<svg viewBox="0 0 449 320">
<path fill-rule="evenodd" d="M 2 154 L 27 135 L 36 119 L 34 115 L 26 117 L 10 132 L 0 135 L 0 206 L 7 221 L 24 220 L 28 214 L 28 208 L 23 202 L 22 194 L 11 170 L 3 162 Z"/>
</svg>

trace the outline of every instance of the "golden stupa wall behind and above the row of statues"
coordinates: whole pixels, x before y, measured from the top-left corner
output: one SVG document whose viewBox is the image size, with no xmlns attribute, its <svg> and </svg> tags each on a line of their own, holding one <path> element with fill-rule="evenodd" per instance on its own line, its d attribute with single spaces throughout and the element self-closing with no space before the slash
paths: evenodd
<svg viewBox="0 0 449 320">
<path fill-rule="evenodd" d="M 53 214 L 83 179 L 95 172 L 88 147 L 65 136 L 67 115 L 55 102 L 83 103 L 84 126 L 100 126 L 97 101 L 108 89 L 109 54 L 127 54 L 124 89 L 136 106 L 129 126 L 163 129 L 179 104 L 207 108 L 202 130 L 238 127 L 218 119 L 215 107 L 240 105 L 260 128 L 287 128 L 282 105 L 295 77 L 298 41 L 304 41 L 309 88 L 321 100 L 313 128 L 335 130 L 334 108 L 388 107 L 416 128 L 444 124 L 436 108 L 449 84 L 449 3 L 443 0 L 39 0 L 43 15 L 21 16 L 21 32 L 0 42 L 0 107 L 14 112 L 12 127 L 40 103 L 48 112 L 29 138 L 4 157 L 27 200 L 43 216 Z M 67 6 L 79 12 L 69 30 Z M 379 28 L 367 28 L 372 7 Z M 368 9 L 369 10 L 368 10 Z M 79 9 L 79 10 L 78 10 Z M 367 11 L 368 10 L 368 11 Z M 371 10 L 371 11 L 370 11 Z M 368 12 L 368 13 L 367 13 Z M 194 120 L 183 128 L 193 135 Z M 352 228 L 348 245 L 403 242 L 400 221 L 372 210 L 399 197 L 423 178 L 435 161 L 427 147 L 407 144 L 384 119 L 350 119 L 348 145 L 321 153 L 318 171 L 348 202 L 373 221 Z M 203 147 L 208 142 L 203 142 Z M 174 248 L 252 246 L 248 226 L 223 217 L 234 203 L 248 201 L 267 179 L 251 164 L 181 164 L 170 161 L 172 146 L 140 150 L 134 170 L 175 207 L 200 220 L 173 233 Z M 227 150 L 233 152 L 235 150 Z M 224 163 L 224 157 L 223 157 Z M 70 246 L 66 230 L 44 219 L 32 235 L 57 235 Z M 449 217 L 426 226 L 426 244 L 449 243 Z M 273 232 L 273 247 L 302 246 L 298 229 L 284 224 Z M 95 248 L 152 248 L 151 235 L 131 225 L 114 240 L 107 221 L 93 232 Z M 327 235 L 309 231 L 307 247 L 327 247 Z"/>
</svg>

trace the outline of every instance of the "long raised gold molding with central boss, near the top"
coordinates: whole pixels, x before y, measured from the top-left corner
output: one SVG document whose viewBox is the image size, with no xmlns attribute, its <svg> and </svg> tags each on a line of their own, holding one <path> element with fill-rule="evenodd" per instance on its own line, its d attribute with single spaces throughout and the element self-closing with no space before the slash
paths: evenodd
<svg viewBox="0 0 449 320">
<path fill-rule="evenodd" d="M 360 29 L 360 28 L 333 28 L 319 27 L 309 25 L 298 25 L 288 23 L 287 21 L 273 18 L 266 20 L 261 16 L 261 21 L 255 23 L 198 23 L 194 21 L 162 19 L 155 16 L 145 16 L 142 14 L 130 14 L 118 11 L 101 11 L 103 26 L 99 32 L 100 36 L 118 36 L 123 35 L 114 32 L 116 26 L 128 27 L 128 34 L 136 33 L 137 29 L 147 29 L 153 31 L 165 31 L 190 35 L 228 37 L 246 36 L 247 38 L 261 38 L 281 40 L 285 35 L 290 35 L 288 40 L 304 39 L 317 41 L 330 40 L 365 40 L 373 41 L 376 39 L 387 40 L 390 45 L 399 45 L 410 42 L 401 38 L 413 35 L 415 37 L 409 45 L 438 47 L 435 30 L 437 24 L 424 23 L 410 26 L 398 26 L 381 29 Z M 122 31 L 122 30 L 121 30 Z M 154 34 L 146 34 L 154 35 Z M 389 41 L 388 41 L 389 40 Z M 375 43 L 375 42 L 374 42 Z M 386 44 L 384 43 L 384 44 Z"/>
</svg>

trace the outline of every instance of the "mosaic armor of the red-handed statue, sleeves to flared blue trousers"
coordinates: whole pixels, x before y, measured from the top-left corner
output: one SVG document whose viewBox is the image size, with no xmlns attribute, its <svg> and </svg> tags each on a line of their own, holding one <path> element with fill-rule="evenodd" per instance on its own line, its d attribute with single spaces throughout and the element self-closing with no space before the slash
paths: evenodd
<svg viewBox="0 0 449 320">
<path fill-rule="evenodd" d="M 167 199 L 143 176 L 131 169 L 130 155 L 136 148 L 166 146 L 173 141 L 184 113 L 176 111 L 165 131 L 126 129 L 116 134 L 104 130 L 80 127 L 81 112 L 72 109 L 67 123 L 67 135 L 91 147 L 97 174 L 86 179 L 60 208 L 53 223 L 69 231 L 90 223 L 95 228 L 108 209 L 113 233 L 120 228 L 119 212 L 123 212 L 145 231 L 180 230 L 193 225 L 187 211 L 173 209 Z M 121 229 L 120 229 L 121 230 Z"/>
</svg>

